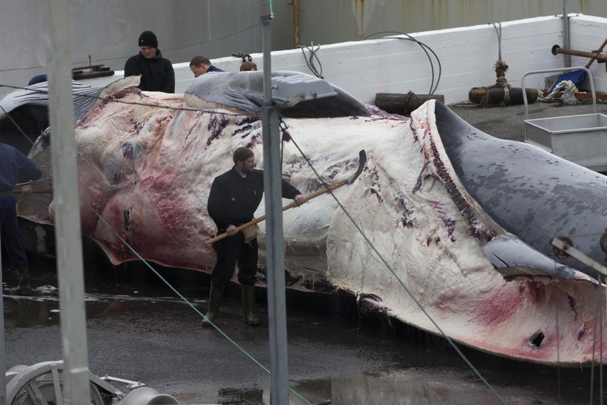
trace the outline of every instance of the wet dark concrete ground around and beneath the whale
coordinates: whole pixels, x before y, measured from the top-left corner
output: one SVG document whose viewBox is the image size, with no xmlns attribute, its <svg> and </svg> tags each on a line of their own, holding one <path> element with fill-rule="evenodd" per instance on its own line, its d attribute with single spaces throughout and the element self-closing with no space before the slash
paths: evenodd
<svg viewBox="0 0 607 405">
<path fill-rule="evenodd" d="M 483 132 L 524 139 L 523 106 L 450 107 Z M 606 110 L 599 104 L 599 112 Z M 592 106 L 532 104 L 530 111 L 531 118 L 544 118 L 591 113 Z M 35 286 L 57 285 L 53 260 L 33 258 L 31 268 Z M 112 267 L 93 253 L 85 268 L 91 372 L 142 381 L 180 404 L 270 404 L 270 376 L 243 353 L 270 367 L 264 290 L 257 291 L 263 326 L 249 327 L 241 322 L 238 287 L 228 289 L 218 326 L 232 344 L 202 328 L 200 315 L 142 264 Z M 209 276 L 154 268 L 204 312 Z M 15 273 L 4 271 L 3 281 L 15 286 Z M 488 388 L 444 340 L 361 314 L 350 296 L 289 291 L 286 312 L 289 381 L 300 396 L 291 394 L 291 404 L 590 403 L 590 369 L 532 365 L 460 347 Z M 5 294 L 4 315 L 7 368 L 62 358 L 56 292 Z M 598 369 L 593 397 L 598 404 Z"/>
</svg>

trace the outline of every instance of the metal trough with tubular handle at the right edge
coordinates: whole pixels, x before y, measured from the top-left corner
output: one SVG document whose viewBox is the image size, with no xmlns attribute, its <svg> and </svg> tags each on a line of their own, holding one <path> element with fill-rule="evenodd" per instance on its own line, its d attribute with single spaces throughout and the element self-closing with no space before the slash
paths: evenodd
<svg viewBox="0 0 607 405">
<path fill-rule="evenodd" d="M 592 114 L 537 118 L 529 120 L 525 97 L 525 77 L 528 74 L 585 70 L 592 90 Z M 592 74 L 585 67 L 534 70 L 521 79 L 525 104 L 525 142 L 596 171 L 607 171 L 607 116 L 597 113 L 597 96 Z"/>
</svg>

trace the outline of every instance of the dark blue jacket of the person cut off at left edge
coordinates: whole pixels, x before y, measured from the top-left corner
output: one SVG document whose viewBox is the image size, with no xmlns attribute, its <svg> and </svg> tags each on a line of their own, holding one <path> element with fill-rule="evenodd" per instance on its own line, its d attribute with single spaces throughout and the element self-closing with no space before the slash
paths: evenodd
<svg viewBox="0 0 607 405">
<path fill-rule="evenodd" d="M 42 172 L 22 152 L 0 143 L 0 191 L 15 189 L 17 183 L 38 180 Z"/>
</svg>

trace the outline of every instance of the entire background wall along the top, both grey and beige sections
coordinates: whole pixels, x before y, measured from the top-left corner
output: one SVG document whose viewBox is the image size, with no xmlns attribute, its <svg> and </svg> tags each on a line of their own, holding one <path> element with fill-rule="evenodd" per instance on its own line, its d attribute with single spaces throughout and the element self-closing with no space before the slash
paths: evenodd
<svg viewBox="0 0 607 405">
<path fill-rule="evenodd" d="M 300 44 L 306 46 L 563 12 L 563 0 L 274 0 L 274 50 L 294 47 L 296 5 Z M 607 17 L 606 0 L 569 0 L 567 7 L 569 13 Z M 40 0 L 3 0 L 0 84 L 24 86 L 44 72 L 43 9 Z M 122 70 L 147 29 L 158 35 L 159 48 L 173 63 L 196 54 L 220 58 L 261 52 L 259 17 L 267 13 L 267 0 L 70 0 L 72 64 L 88 65 L 90 55 L 93 64 Z M 0 97 L 8 91 L 0 88 Z"/>
</svg>

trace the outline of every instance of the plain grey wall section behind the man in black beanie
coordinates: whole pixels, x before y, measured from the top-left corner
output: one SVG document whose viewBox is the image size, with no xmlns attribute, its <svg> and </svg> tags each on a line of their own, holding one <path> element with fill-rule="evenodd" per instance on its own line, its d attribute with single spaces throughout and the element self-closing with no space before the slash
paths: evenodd
<svg viewBox="0 0 607 405">
<path fill-rule="evenodd" d="M 0 84 L 25 86 L 45 72 L 44 1 L 3 0 L 0 13 Z M 261 52 L 259 16 L 253 0 L 70 0 L 72 66 L 104 64 L 124 69 L 139 49 L 139 34 L 156 33 L 163 56 L 177 63 L 197 54 L 209 58 Z M 0 97 L 11 89 L 0 88 Z"/>
</svg>

